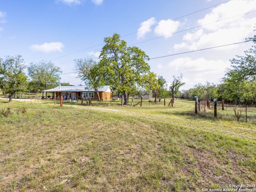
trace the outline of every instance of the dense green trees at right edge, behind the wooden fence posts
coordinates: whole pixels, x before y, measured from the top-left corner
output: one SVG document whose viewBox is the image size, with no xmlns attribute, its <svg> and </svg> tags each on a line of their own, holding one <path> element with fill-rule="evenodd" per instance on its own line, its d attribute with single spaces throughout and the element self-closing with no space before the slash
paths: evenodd
<svg viewBox="0 0 256 192">
<path fill-rule="evenodd" d="M 194 88 L 182 91 L 182 98 L 193 99 L 225 99 L 227 102 L 241 104 L 247 102 L 256 106 L 256 36 L 247 38 L 253 45 L 243 56 L 231 59 L 231 68 L 218 85 L 206 82 Z"/>
</svg>

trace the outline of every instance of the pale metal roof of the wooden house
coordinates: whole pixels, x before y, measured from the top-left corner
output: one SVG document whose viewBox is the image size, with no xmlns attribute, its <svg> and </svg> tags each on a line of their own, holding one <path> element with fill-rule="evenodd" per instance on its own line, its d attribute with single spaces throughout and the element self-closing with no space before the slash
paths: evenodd
<svg viewBox="0 0 256 192">
<path fill-rule="evenodd" d="M 86 86 L 57 86 L 53 89 L 44 90 L 43 92 L 94 92 L 93 89 L 87 89 Z M 110 86 L 105 85 L 99 88 L 100 92 L 111 92 Z"/>
</svg>

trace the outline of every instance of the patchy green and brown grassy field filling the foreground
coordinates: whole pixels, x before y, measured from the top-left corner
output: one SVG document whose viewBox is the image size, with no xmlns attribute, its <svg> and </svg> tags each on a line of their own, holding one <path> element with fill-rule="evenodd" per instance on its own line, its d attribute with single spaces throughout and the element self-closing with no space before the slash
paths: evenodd
<svg viewBox="0 0 256 192">
<path fill-rule="evenodd" d="M 201 191 L 256 183 L 255 112 L 245 123 L 244 113 L 237 122 L 232 110 L 219 110 L 219 119 L 212 110 L 195 116 L 190 101 L 117 106 L 0 100 L 0 191 Z"/>
</svg>

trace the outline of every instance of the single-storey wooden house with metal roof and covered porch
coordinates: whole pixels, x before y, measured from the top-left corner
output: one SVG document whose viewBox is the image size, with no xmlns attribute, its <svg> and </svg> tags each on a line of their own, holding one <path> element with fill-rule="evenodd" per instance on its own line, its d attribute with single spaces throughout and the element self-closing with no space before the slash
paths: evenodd
<svg viewBox="0 0 256 192">
<path fill-rule="evenodd" d="M 57 86 L 53 89 L 44 90 L 44 93 L 52 93 L 52 95 L 56 95 L 57 99 L 62 98 L 64 100 L 72 99 L 87 99 L 91 98 L 91 100 L 98 100 L 98 94 L 93 89 L 87 89 L 86 86 Z M 110 90 L 109 85 L 105 85 L 99 89 L 99 95 L 101 101 L 111 101 L 113 99 L 113 94 Z"/>
</svg>

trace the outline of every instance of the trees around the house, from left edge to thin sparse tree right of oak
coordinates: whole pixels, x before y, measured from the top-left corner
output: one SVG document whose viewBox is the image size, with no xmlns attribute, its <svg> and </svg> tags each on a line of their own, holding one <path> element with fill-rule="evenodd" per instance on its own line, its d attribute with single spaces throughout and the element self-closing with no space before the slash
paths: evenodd
<svg viewBox="0 0 256 192">
<path fill-rule="evenodd" d="M 172 97 L 179 93 L 183 85 L 182 75 L 173 77 L 170 90 L 166 80 L 150 71 L 147 63 L 148 55 L 136 46 L 127 46 L 118 34 L 104 39 L 105 45 L 99 57 L 99 62 L 92 58 L 76 59 L 76 70 L 87 88 L 98 94 L 104 85 L 110 85 L 111 90 L 123 95 L 127 105 L 129 97 L 141 95 L 143 92 L 152 92 L 155 102 L 163 98 Z M 27 75 L 25 73 L 27 69 Z M 13 95 L 18 92 L 38 93 L 51 89 L 60 83 L 60 67 L 51 61 L 31 62 L 27 67 L 21 55 L 0 58 L 0 89 L 3 94 Z M 69 85 L 69 83 L 61 83 Z"/>
</svg>

